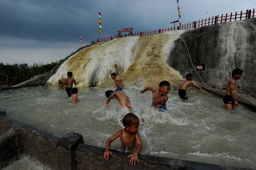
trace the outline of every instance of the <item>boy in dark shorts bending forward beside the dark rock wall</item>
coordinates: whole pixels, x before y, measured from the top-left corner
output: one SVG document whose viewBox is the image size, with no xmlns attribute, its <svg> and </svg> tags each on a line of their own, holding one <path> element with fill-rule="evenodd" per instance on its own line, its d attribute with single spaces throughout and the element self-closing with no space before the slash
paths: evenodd
<svg viewBox="0 0 256 170">
<path fill-rule="evenodd" d="M 203 90 L 202 88 L 198 87 L 197 85 L 195 85 L 192 80 L 193 80 L 193 74 L 191 73 L 188 73 L 186 75 L 186 79 L 185 81 L 183 81 L 182 85 L 181 85 L 181 88 L 179 89 L 178 91 L 178 94 L 180 96 L 180 98 L 182 98 L 183 100 L 184 99 L 188 99 L 188 93 L 186 91 L 186 89 L 188 88 L 188 86 L 193 86 L 197 89 L 200 89 L 200 90 Z"/>
</svg>

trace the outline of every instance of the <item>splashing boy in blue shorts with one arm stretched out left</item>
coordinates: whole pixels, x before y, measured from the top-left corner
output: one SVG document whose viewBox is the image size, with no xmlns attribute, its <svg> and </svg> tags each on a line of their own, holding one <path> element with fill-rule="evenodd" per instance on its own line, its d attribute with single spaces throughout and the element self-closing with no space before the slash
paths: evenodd
<svg viewBox="0 0 256 170">
<path fill-rule="evenodd" d="M 140 90 L 141 93 L 144 93 L 147 90 L 152 91 L 153 101 L 151 106 L 157 108 L 159 111 L 167 111 L 166 101 L 168 100 L 167 94 L 170 92 L 171 85 L 168 81 L 161 81 L 159 84 L 159 89 L 155 87 L 146 87 L 143 90 Z"/>
</svg>

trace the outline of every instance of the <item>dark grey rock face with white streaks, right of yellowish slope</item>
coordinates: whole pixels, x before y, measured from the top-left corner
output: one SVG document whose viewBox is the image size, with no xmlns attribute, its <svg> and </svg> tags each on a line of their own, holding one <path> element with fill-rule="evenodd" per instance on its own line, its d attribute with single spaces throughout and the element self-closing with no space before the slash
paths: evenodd
<svg viewBox="0 0 256 170">
<path fill-rule="evenodd" d="M 235 68 L 244 70 L 238 90 L 256 92 L 256 18 L 201 27 L 186 31 L 175 41 L 168 64 L 179 71 L 183 78 L 192 73 L 196 64 L 205 64 L 206 70 L 197 71 L 210 87 L 226 89 Z M 188 50 L 191 55 L 191 60 Z"/>
</svg>

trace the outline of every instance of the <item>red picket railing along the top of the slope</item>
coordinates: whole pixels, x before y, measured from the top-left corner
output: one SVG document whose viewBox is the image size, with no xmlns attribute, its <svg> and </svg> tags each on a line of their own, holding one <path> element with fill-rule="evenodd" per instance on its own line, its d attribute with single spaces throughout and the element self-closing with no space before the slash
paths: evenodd
<svg viewBox="0 0 256 170">
<path fill-rule="evenodd" d="M 134 36 L 155 35 L 155 34 L 167 32 L 167 31 L 207 27 L 207 26 L 211 26 L 211 25 L 222 24 L 225 22 L 243 20 L 243 19 L 247 19 L 247 18 L 255 18 L 255 16 L 256 16 L 255 12 L 256 12 L 255 9 L 253 9 L 253 10 L 247 9 L 245 13 L 243 13 L 243 11 L 241 11 L 240 13 L 236 12 L 235 14 L 232 14 L 232 12 L 231 12 L 230 15 L 228 15 L 228 13 L 226 13 L 226 15 L 222 14 L 221 16 L 218 15 L 218 16 L 215 16 L 212 18 L 209 17 L 209 18 L 205 18 L 205 19 L 199 19 L 199 20 L 187 23 L 185 25 L 182 25 L 181 27 L 177 26 L 175 28 L 171 27 L 171 28 L 165 28 L 165 29 L 158 29 L 158 30 L 156 29 L 156 30 L 151 30 L 151 31 L 137 32 L 134 34 Z M 125 34 L 125 36 L 127 36 L 127 35 Z M 96 43 L 108 42 L 115 38 L 117 38 L 116 35 L 108 36 L 108 37 L 96 39 L 94 42 L 96 42 Z"/>
</svg>

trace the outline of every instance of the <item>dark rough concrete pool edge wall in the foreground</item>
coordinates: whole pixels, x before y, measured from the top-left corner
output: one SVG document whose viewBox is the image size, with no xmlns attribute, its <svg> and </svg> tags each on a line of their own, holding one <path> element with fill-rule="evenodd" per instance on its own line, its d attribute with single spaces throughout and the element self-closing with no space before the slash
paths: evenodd
<svg viewBox="0 0 256 170">
<path fill-rule="evenodd" d="M 59 138 L 0 115 L 0 169 L 28 155 L 53 170 L 246 170 L 142 154 L 131 166 L 129 152 L 111 151 L 113 155 L 106 161 L 105 148 L 84 144 L 81 134 Z"/>
</svg>

